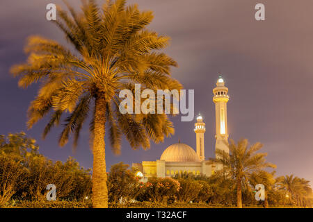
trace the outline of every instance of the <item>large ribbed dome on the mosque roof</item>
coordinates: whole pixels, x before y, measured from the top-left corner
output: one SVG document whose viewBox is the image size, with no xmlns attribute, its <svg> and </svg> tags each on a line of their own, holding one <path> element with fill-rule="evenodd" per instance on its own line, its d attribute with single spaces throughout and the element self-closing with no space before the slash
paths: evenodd
<svg viewBox="0 0 313 222">
<path fill-rule="evenodd" d="M 172 144 L 162 153 L 161 159 L 166 162 L 199 162 L 200 159 L 190 146 L 186 144 Z"/>
</svg>

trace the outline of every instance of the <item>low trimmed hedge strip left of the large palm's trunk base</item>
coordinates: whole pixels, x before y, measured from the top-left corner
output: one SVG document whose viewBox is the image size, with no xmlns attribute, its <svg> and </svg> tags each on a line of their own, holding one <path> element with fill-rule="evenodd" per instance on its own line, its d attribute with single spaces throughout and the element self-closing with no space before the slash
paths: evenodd
<svg viewBox="0 0 313 222">
<path fill-rule="evenodd" d="M 77 201 L 26 201 L 15 204 L 15 208 L 89 208 L 90 205 Z"/>
</svg>

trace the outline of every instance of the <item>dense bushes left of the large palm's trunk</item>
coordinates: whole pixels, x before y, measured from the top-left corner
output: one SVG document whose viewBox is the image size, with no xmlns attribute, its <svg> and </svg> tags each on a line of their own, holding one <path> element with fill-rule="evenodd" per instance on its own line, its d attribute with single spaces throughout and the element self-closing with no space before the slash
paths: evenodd
<svg viewBox="0 0 313 222">
<path fill-rule="evenodd" d="M 91 196 L 91 174 L 72 157 L 52 162 L 38 153 L 25 133 L 0 135 L 0 205 L 9 200 L 45 200 L 47 185 L 56 185 L 58 200 Z"/>
</svg>

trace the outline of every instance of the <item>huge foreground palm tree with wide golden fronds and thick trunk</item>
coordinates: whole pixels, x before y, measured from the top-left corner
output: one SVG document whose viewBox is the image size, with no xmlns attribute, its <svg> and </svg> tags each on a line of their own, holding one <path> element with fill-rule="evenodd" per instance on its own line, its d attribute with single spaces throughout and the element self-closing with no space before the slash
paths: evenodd
<svg viewBox="0 0 313 222">
<path fill-rule="evenodd" d="M 58 8 L 60 20 L 55 22 L 74 50 L 44 37 L 30 37 L 27 62 L 11 72 L 19 77 L 19 87 L 42 83 L 29 107 L 29 128 L 51 113 L 43 132 L 46 137 L 68 112 L 60 146 L 67 144 L 72 133 L 77 146 L 83 123 L 92 114 L 93 207 L 108 207 L 106 127 L 115 153 L 120 153 L 122 134 L 132 148 L 150 148 L 150 139 L 159 143 L 174 133 L 166 114 L 121 114 L 119 92 L 134 90 L 135 83 L 154 91 L 182 85 L 170 76 L 170 67 L 177 63 L 158 51 L 168 45 L 169 38 L 145 28 L 152 22 L 151 11 L 126 6 L 125 0 L 106 1 L 102 8 L 95 0 L 82 3 L 82 12 L 67 3 L 70 14 Z"/>
</svg>

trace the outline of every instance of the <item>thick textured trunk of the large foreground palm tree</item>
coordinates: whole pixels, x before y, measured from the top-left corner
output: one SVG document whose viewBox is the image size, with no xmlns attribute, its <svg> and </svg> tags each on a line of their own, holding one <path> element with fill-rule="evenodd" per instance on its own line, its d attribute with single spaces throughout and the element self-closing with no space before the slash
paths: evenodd
<svg viewBox="0 0 313 222">
<path fill-rule="evenodd" d="M 104 95 L 95 98 L 95 129 L 93 139 L 93 207 L 108 207 L 105 160 L 106 103 Z"/>
</svg>

